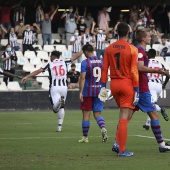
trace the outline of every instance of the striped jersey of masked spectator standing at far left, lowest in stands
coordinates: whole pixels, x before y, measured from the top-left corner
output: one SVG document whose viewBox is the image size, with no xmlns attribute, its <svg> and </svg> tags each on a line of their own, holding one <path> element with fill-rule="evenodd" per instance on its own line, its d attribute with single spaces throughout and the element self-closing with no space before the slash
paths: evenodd
<svg viewBox="0 0 170 170">
<path fill-rule="evenodd" d="M 17 61 L 17 56 L 15 51 L 4 51 L 2 54 L 2 58 L 7 58 L 12 55 L 8 60 L 3 62 L 3 69 L 4 70 L 11 70 L 15 66 L 15 61 Z"/>
</svg>

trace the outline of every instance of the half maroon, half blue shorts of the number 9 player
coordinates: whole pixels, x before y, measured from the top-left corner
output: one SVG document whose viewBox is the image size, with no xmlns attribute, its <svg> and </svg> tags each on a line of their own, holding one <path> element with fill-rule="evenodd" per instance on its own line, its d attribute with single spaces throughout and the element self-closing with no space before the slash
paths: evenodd
<svg viewBox="0 0 170 170">
<path fill-rule="evenodd" d="M 80 108 L 86 111 L 101 112 L 103 110 L 103 102 L 98 97 L 83 97 Z"/>
</svg>

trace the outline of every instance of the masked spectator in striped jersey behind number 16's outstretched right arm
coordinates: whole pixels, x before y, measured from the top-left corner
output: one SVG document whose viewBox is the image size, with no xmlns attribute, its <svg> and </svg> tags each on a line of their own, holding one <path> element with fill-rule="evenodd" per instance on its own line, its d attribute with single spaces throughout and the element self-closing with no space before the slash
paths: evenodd
<svg viewBox="0 0 170 170">
<path fill-rule="evenodd" d="M 70 44 L 73 46 L 72 56 L 74 56 L 76 53 L 80 52 L 82 49 L 82 36 L 79 36 L 79 31 L 75 30 L 74 35 L 70 38 Z M 82 56 L 80 56 L 77 59 L 78 63 L 81 63 Z"/>
</svg>

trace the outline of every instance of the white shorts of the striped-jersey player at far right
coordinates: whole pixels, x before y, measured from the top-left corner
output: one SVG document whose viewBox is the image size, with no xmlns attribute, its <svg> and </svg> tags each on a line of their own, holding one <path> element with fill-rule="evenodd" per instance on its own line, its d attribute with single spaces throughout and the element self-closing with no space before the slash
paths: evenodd
<svg viewBox="0 0 170 170">
<path fill-rule="evenodd" d="M 152 102 L 157 102 L 162 92 L 162 84 L 156 82 L 149 82 L 149 90 L 152 95 Z"/>
</svg>

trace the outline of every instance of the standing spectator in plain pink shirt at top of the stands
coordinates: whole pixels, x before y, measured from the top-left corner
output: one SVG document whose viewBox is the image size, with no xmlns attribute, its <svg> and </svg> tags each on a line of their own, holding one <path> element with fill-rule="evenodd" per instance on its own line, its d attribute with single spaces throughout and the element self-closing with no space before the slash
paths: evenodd
<svg viewBox="0 0 170 170">
<path fill-rule="evenodd" d="M 102 11 L 99 11 L 98 14 L 98 26 L 103 29 L 107 30 L 109 27 L 110 16 L 107 13 L 107 8 L 104 7 Z"/>
</svg>

